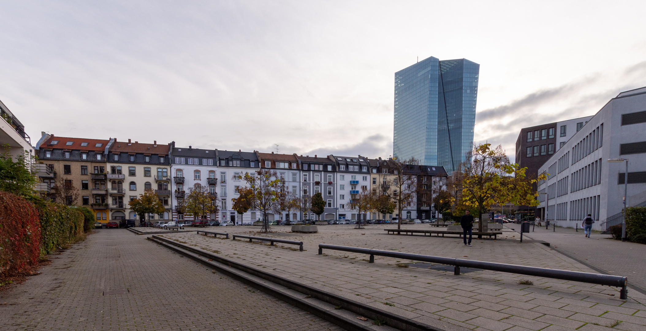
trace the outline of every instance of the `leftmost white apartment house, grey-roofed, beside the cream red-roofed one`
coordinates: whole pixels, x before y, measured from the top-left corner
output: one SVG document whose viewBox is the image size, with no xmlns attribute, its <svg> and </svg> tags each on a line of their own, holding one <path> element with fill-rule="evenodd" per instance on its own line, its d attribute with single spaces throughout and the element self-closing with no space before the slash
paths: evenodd
<svg viewBox="0 0 646 331">
<path fill-rule="evenodd" d="M 175 147 L 171 143 L 171 199 L 172 219 L 180 221 L 193 221 L 194 215 L 184 215 L 182 208 L 183 199 L 197 186 L 208 187 L 209 194 L 214 202 L 218 201 L 218 155 L 215 149 L 199 149 L 189 146 Z M 218 213 L 202 215 L 202 219 L 216 220 Z"/>
</svg>

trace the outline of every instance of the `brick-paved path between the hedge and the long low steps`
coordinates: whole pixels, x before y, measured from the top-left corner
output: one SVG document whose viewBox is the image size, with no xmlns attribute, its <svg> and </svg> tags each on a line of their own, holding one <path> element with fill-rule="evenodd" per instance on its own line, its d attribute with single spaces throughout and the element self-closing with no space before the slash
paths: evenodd
<svg viewBox="0 0 646 331">
<path fill-rule="evenodd" d="M 0 330 L 342 330 L 125 229 L 0 292 Z"/>
</svg>

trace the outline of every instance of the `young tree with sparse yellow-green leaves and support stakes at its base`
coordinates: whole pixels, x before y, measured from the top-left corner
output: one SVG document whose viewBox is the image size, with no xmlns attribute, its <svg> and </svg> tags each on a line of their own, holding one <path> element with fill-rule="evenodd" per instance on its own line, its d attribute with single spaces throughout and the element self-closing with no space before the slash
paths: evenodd
<svg viewBox="0 0 646 331">
<path fill-rule="evenodd" d="M 262 229 L 261 232 L 269 232 L 269 217 L 267 213 L 273 211 L 274 204 L 278 201 L 278 189 L 280 187 L 280 179 L 278 173 L 269 169 L 260 169 L 253 174 L 245 173 L 242 177 L 249 189 L 253 192 L 253 204 L 256 209 L 262 213 Z M 272 179 L 275 178 L 275 179 Z"/>
</svg>

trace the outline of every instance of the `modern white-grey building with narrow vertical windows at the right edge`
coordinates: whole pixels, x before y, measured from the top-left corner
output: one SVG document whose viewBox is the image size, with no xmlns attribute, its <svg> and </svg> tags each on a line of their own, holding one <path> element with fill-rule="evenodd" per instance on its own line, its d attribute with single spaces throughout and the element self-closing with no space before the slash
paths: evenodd
<svg viewBox="0 0 646 331">
<path fill-rule="evenodd" d="M 611 158 L 629 159 L 627 205 L 646 202 L 645 105 L 642 87 L 621 92 L 587 121 L 570 120 L 583 125 L 538 171 L 549 174 L 538 186 L 539 193 L 547 193 L 539 196 L 541 217 L 574 227 L 592 214 L 594 230 L 621 223 L 626 165 L 607 162 Z"/>
</svg>

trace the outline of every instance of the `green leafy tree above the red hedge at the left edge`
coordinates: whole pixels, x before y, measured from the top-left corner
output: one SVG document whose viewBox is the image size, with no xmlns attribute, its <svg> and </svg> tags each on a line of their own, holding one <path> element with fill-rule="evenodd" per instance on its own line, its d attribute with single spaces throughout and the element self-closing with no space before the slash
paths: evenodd
<svg viewBox="0 0 646 331">
<path fill-rule="evenodd" d="M 30 164 L 34 157 L 27 151 L 16 156 L 16 161 L 9 153 L 8 144 L 3 146 L 5 151 L 0 155 L 0 191 L 10 192 L 20 197 L 34 198 L 37 177 Z"/>
</svg>

